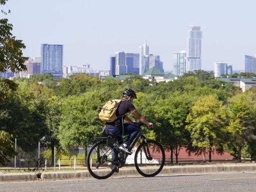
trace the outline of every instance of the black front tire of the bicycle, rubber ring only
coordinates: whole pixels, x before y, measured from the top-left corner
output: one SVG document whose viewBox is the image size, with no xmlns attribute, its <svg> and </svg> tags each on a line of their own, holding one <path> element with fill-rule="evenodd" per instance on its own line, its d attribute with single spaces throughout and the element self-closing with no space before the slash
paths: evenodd
<svg viewBox="0 0 256 192">
<path fill-rule="evenodd" d="M 138 157 L 138 153 L 141 151 L 141 149 L 143 148 L 143 146 L 147 145 L 148 143 L 153 143 L 155 144 L 159 150 L 161 151 L 162 153 L 162 162 L 158 168 L 158 170 L 156 170 L 155 172 L 151 173 L 151 174 L 147 174 L 145 173 L 146 171 L 143 172 L 142 169 L 140 169 L 140 166 L 137 162 L 137 157 Z M 165 156 L 165 150 L 164 148 L 162 147 L 162 145 L 160 143 L 158 143 L 157 141 L 155 140 L 147 140 L 147 143 L 143 142 L 142 144 L 140 144 L 135 152 L 135 156 L 134 156 L 134 162 L 135 162 L 135 167 L 136 167 L 136 170 L 143 176 L 143 177 L 154 177 L 156 175 L 158 175 L 158 173 L 163 169 L 164 165 L 165 165 L 165 160 L 166 160 L 166 156 Z"/>
</svg>

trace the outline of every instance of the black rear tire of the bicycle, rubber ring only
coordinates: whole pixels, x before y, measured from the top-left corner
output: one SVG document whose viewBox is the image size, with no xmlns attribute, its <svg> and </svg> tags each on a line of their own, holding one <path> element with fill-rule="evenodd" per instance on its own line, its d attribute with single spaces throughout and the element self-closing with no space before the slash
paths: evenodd
<svg viewBox="0 0 256 192">
<path fill-rule="evenodd" d="M 115 172 L 115 170 L 110 170 L 109 173 L 107 173 L 106 175 L 99 176 L 96 173 L 94 173 L 94 171 L 91 169 L 91 166 L 90 166 L 90 155 L 92 154 L 93 150 L 100 144 L 107 145 L 108 147 L 113 148 L 113 145 L 106 141 L 98 141 L 97 143 L 93 144 L 88 152 L 87 157 L 86 157 L 86 166 L 87 166 L 87 169 L 89 170 L 92 177 L 97 178 L 97 179 L 106 179 L 108 177 L 111 177 L 113 175 L 113 173 Z M 115 148 L 113 150 L 115 150 L 115 152 L 117 154 L 117 150 Z"/>
</svg>

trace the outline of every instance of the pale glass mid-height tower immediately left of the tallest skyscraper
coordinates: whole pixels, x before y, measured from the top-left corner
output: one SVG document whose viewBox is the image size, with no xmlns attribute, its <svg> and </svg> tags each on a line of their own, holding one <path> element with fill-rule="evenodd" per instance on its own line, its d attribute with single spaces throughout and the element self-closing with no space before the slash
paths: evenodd
<svg viewBox="0 0 256 192">
<path fill-rule="evenodd" d="M 176 76 L 182 76 L 184 73 L 186 73 L 186 52 L 174 52 L 173 74 Z"/>
</svg>

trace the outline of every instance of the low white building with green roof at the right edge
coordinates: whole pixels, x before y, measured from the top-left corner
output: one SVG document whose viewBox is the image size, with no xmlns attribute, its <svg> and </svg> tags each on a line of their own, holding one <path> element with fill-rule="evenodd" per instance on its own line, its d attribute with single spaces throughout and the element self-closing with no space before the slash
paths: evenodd
<svg viewBox="0 0 256 192">
<path fill-rule="evenodd" d="M 256 78 L 232 78 L 232 77 L 217 77 L 219 81 L 223 81 L 224 84 L 232 83 L 234 86 L 240 87 L 242 92 L 246 89 L 251 88 L 252 86 L 256 86 Z"/>
</svg>

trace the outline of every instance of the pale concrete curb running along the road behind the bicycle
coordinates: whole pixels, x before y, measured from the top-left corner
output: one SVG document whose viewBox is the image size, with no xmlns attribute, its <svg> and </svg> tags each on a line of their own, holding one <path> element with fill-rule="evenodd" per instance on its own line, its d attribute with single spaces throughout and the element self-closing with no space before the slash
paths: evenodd
<svg viewBox="0 0 256 192">
<path fill-rule="evenodd" d="M 149 170 L 150 167 L 145 168 Z M 229 164 L 229 165 L 180 165 L 165 166 L 158 175 L 191 174 L 191 173 L 221 173 L 221 172 L 252 172 L 256 171 L 256 164 Z M 121 168 L 119 173 L 114 173 L 112 177 L 138 177 L 141 176 L 135 168 Z M 142 177 L 142 176 L 141 176 Z M 11 181 L 35 181 L 61 180 L 61 179 L 89 179 L 93 178 L 88 170 L 60 171 L 43 173 L 7 173 L 0 174 L 0 182 Z"/>
</svg>

